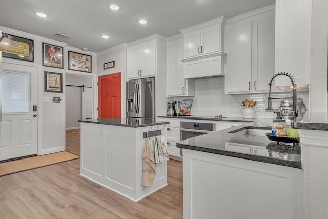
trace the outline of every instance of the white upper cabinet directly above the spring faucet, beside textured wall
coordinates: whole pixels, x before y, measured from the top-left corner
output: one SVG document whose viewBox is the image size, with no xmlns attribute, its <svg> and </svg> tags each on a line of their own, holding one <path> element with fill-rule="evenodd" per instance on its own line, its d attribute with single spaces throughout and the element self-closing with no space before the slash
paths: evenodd
<svg viewBox="0 0 328 219">
<path fill-rule="evenodd" d="M 276 0 L 275 72 L 288 72 L 296 85 L 310 83 L 311 0 Z M 275 86 L 291 86 L 278 76 Z"/>
</svg>

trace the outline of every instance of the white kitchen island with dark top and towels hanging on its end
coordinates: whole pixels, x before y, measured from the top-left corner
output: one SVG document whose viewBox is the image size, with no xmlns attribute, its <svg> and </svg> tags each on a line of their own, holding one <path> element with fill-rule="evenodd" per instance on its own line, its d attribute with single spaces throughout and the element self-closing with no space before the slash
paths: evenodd
<svg viewBox="0 0 328 219">
<path fill-rule="evenodd" d="M 156 164 L 153 186 L 142 186 L 144 132 L 165 134 L 169 122 L 98 118 L 81 122 L 80 175 L 138 202 L 167 186 L 167 162 Z M 155 133 L 155 132 L 153 132 Z"/>
</svg>

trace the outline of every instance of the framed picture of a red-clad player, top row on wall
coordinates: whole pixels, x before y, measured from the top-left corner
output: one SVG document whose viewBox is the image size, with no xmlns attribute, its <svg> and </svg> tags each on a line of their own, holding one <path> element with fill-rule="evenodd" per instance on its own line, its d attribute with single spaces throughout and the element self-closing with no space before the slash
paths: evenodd
<svg viewBox="0 0 328 219">
<path fill-rule="evenodd" d="M 63 68 L 63 47 L 42 43 L 42 65 Z"/>
</svg>

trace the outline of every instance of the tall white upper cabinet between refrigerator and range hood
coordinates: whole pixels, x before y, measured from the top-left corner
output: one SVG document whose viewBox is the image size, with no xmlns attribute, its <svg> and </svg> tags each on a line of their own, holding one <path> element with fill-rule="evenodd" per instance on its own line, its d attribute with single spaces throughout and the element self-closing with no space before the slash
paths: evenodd
<svg viewBox="0 0 328 219">
<path fill-rule="evenodd" d="M 176 35 L 168 38 L 166 52 L 167 96 L 194 96 L 195 82 L 182 79 L 183 36 Z"/>
</svg>

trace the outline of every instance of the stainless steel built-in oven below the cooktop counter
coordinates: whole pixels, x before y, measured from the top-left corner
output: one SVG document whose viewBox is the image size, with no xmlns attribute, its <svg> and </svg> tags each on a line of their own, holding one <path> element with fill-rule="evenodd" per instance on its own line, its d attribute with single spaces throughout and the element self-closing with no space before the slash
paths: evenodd
<svg viewBox="0 0 328 219">
<path fill-rule="evenodd" d="M 216 131 L 216 123 L 180 122 L 180 140 Z"/>
</svg>

